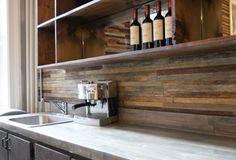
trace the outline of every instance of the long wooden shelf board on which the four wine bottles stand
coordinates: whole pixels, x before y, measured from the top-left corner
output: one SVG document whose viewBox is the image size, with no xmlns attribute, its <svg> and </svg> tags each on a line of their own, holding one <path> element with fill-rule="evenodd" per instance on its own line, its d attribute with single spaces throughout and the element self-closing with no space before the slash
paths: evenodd
<svg viewBox="0 0 236 160">
<path fill-rule="evenodd" d="M 114 55 L 105 55 L 93 58 L 74 60 L 56 64 L 38 66 L 38 69 L 46 68 L 71 68 L 71 67 L 93 67 L 104 64 L 152 60 L 154 58 L 182 56 L 198 54 L 202 52 L 222 52 L 236 50 L 236 36 L 212 38 L 188 43 L 166 46 L 161 48 L 131 51 Z"/>
</svg>

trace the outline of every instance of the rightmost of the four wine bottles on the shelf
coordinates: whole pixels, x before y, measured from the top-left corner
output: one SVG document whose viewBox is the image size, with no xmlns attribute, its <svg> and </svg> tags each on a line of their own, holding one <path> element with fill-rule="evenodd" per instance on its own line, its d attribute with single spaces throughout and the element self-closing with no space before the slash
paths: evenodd
<svg viewBox="0 0 236 160">
<path fill-rule="evenodd" d="M 168 0 L 168 12 L 165 16 L 165 40 L 166 45 L 173 45 L 173 26 L 172 26 L 172 13 L 171 13 L 171 0 Z"/>
</svg>

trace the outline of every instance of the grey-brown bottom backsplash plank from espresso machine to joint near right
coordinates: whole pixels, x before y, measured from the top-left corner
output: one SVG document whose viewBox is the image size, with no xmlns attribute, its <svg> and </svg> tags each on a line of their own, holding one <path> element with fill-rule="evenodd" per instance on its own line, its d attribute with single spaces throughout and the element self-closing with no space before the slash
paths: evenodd
<svg viewBox="0 0 236 160">
<path fill-rule="evenodd" d="M 136 109 L 120 109 L 119 113 L 119 120 L 123 123 L 214 133 L 214 126 L 209 123 L 210 116 Z"/>
</svg>

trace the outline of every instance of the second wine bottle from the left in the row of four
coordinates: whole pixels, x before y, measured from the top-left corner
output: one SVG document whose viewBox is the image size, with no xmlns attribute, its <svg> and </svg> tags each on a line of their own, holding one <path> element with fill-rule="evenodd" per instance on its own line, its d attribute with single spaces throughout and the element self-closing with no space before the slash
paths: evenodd
<svg viewBox="0 0 236 160">
<path fill-rule="evenodd" d="M 153 48 L 152 20 L 150 18 L 150 6 L 145 5 L 145 18 L 142 23 L 143 49 Z"/>
</svg>

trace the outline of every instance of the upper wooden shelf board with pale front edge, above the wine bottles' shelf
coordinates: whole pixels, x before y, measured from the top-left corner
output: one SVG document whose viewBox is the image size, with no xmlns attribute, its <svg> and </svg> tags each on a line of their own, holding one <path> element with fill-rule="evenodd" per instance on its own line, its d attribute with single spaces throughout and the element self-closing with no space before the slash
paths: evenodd
<svg viewBox="0 0 236 160">
<path fill-rule="evenodd" d="M 52 21 L 62 18 L 78 17 L 82 21 L 91 22 L 99 18 L 111 16 L 121 11 L 140 6 L 153 0 L 92 0 L 64 14 L 58 15 L 38 25 L 38 28 L 46 27 Z"/>
</svg>

